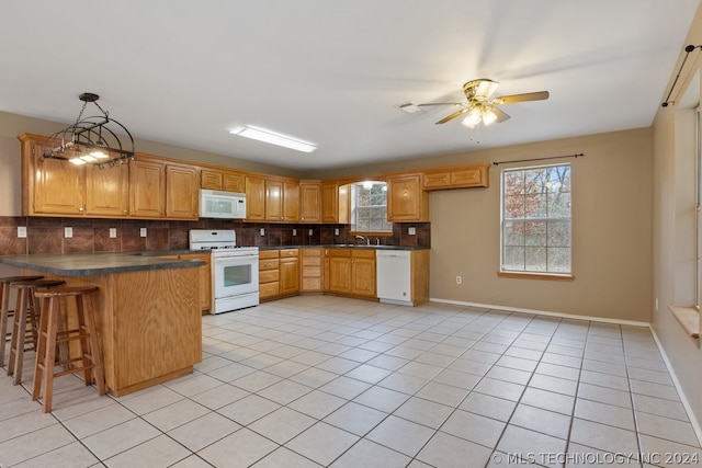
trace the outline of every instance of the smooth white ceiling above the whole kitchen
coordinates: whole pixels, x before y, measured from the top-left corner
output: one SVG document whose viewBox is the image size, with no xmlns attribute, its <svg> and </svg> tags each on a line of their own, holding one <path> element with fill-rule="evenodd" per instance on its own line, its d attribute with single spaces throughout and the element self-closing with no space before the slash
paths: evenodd
<svg viewBox="0 0 702 468">
<path fill-rule="evenodd" d="M 89 91 L 135 138 L 297 170 L 644 127 L 699 1 L 2 1 L 0 111 L 72 123 Z M 476 78 L 551 98 L 473 139 L 434 125 L 452 107 L 395 107 Z M 242 124 L 319 148 L 228 134 Z"/>
</svg>

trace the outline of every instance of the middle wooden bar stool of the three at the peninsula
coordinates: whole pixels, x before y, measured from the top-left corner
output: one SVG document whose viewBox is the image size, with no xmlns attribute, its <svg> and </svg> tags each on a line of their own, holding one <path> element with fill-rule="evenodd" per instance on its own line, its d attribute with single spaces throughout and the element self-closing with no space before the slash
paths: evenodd
<svg viewBox="0 0 702 468">
<path fill-rule="evenodd" d="M 63 279 L 35 279 L 10 283 L 10 289 L 16 290 L 12 340 L 10 341 L 10 362 L 8 363 L 8 375 L 13 376 L 12 384 L 14 385 L 19 385 L 22 381 L 24 352 L 36 350 L 41 309 L 39 301 L 34 297 L 34 294 L 38 289 L 46 289 L 63 284 L 66 284 Z M 27 342 L 30 344 L 29 347 L 26 346 Z"/>
</svg>

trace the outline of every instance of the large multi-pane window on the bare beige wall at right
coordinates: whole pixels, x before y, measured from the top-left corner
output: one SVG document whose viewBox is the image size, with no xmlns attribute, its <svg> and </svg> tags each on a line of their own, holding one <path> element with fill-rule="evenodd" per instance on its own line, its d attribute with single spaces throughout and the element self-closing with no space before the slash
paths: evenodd
<svg viewBox="0 0 702 468">
<path fill-rule="evenodd" d="M 502 171 L 501 271 L 570 274 L 570 164 Z"/>
</svg>

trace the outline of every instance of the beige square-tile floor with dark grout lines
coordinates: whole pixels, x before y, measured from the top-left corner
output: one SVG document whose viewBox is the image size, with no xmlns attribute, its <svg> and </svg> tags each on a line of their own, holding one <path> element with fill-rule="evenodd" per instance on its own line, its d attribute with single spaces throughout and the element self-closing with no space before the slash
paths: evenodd
<svg viewBox="0 0 702 468">
<path fill-rule="evenodd" d="M 1 467 L 702 464 L 646 328 L 305 296 L 203 317 L 195 372 L 122 398 L 64 377 L 43 414 L 25 369 Z"/>
</svg>

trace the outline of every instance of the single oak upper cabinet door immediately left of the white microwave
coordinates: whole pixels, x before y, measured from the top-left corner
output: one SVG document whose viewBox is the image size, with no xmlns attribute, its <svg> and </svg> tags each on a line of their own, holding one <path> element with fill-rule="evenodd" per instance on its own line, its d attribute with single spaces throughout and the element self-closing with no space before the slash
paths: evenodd
<svg viewBox="0 0 702 468">
<path fill-rule="evenodd" d="M 199 218 L 197 170 L 192 165 L 166 165 L 166 217 Z"/>
</svg>

